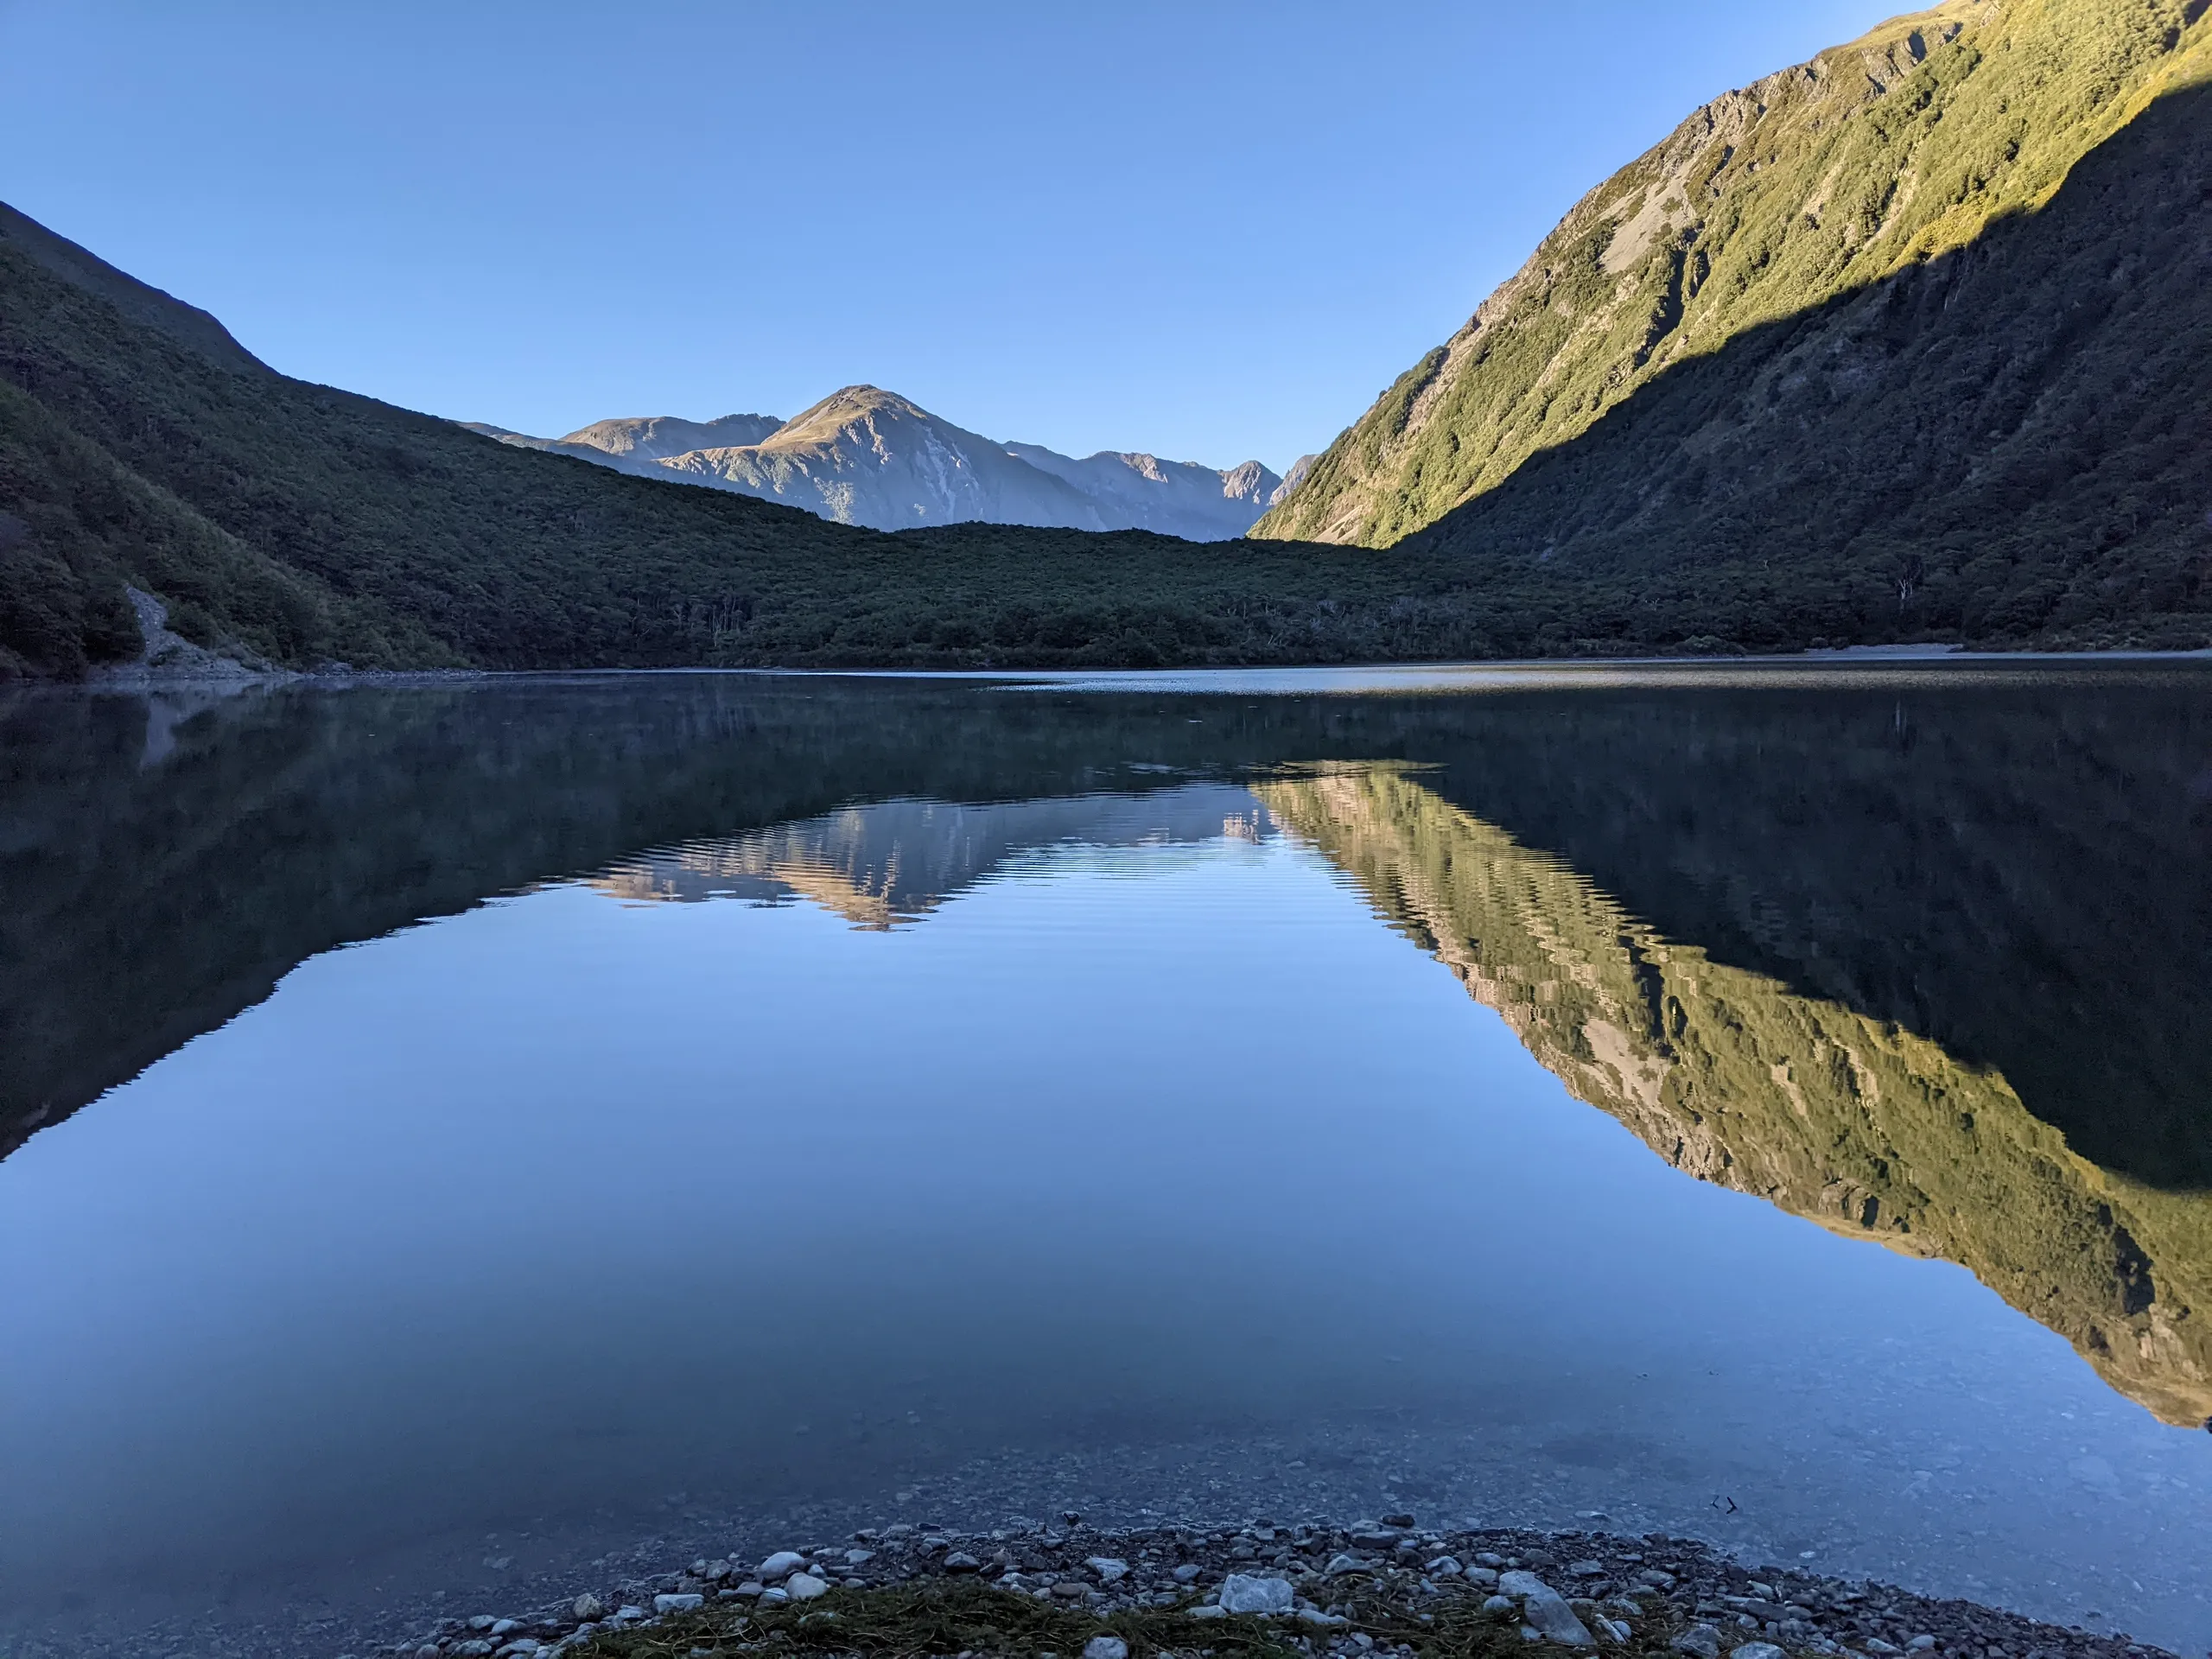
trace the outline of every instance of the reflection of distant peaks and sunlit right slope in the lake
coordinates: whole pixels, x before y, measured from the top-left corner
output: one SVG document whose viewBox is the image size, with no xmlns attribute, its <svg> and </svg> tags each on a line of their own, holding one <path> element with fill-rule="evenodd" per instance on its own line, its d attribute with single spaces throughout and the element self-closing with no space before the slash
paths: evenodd
<svg viewBox="0 0 2212 1659">
<path fill-rule="evenodd" d="M 1283 768 L 1250 792 L 896 801 L 617 863 L 622 900 L 803 896 L 920 920 L 1053 843 L 1281 825 L 1498 1011 L 1577 1099 L 1674 1168 L 1838 1234 L 1953 1261 L 2166 1422 L 2212 1420 L 2212 1199 L 2097 1168 L 1995 1071 L 1714 962 L 1400 765 Z"/>
</svg>

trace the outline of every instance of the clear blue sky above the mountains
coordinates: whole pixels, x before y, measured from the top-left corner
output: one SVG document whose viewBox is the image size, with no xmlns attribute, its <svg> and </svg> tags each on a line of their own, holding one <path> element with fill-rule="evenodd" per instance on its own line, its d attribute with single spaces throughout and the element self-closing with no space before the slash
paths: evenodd
<svg viewBox="0 0 2212 1659">
<path fill-rule="evenodd" d="M 872 380 L 1281 469 L 1586 188 L 1882 0 L 0 0 L 0 199 L 522 431 Z"/>
</svg>

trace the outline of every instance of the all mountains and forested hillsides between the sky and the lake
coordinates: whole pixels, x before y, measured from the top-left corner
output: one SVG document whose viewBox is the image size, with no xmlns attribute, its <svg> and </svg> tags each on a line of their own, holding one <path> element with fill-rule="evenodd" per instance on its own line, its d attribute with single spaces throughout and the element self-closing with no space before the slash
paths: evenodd
<svg viewBox="0 0 2212 1659">
<path fill-rule="evenodd" d="M 161 613 L 243 670 L 2205 648 L 2208 179 L 2201 0 L 1947 0 L 1694 111 L 1287 482 L 874 387 L 469 431 L 0 208 L 0 672 Z"/>
</svg>

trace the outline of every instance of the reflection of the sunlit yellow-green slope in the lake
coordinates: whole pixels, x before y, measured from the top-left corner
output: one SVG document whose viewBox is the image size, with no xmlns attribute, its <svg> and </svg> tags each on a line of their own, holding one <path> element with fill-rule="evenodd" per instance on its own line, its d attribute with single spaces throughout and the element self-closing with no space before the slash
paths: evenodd
<svg viewBox="0 0 2212 1659">
<path fill-rule="evenodd" d="M 1674 1168 L 1955 1261 L 2163 1420 L 2212 1416 L 2212 1199 L 2090 1164 L 1924 1037 L 1661 938 L 1402 772 L 1254 794 Z"/>
</svg>

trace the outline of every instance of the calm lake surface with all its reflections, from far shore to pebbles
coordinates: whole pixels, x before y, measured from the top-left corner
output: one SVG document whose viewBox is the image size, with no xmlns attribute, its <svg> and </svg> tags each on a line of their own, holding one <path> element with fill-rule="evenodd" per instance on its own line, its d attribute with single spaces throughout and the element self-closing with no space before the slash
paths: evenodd
<svg viewBox="0 0 2212 1659">
<path fill-rule="evenodd" d="M 2208 854 L 2205 666 L 18 695 L 0 1652 L 1400 1506 L 2203 1652 Z"/>
</svg>

